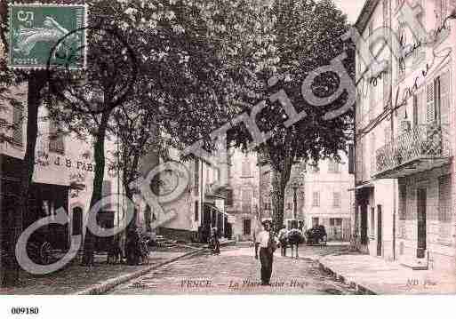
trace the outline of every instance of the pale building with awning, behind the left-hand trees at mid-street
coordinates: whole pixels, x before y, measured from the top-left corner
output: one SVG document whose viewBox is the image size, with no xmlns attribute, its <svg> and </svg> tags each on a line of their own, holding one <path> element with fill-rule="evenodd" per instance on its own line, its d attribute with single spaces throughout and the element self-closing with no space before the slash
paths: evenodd
<svg viewBox="0 0 456 319">
<path fill-rule="evenodd" d="M 176 196 L 172 195 L 171 200 L 161 202 L 161 211 L 138 197 L 140 227 L 152 235 L 188 242 L 207 242 L 214 227 L 220 237 L 231 238 L 233 220 L 228 219 L 225 211 L 227 178 L 223 176 L 228 171 L 228 160 L 223 149 L 214 152 L 211 161 L 196 158 L 182 162 L 177 149 L 169 148 L 168 152 L 166 162 L 178 163 L 187 177 L 170 166 L 169 170 L 164 169 L 156 175 L 159 186 L 154 192 L 165 198 L 181 185 L 185 184 L 185 189 Z M 166 165 L 156 154 L 145 156 L 141 161 L 142 175 L 146 177 L 148 171 L 159 164 Z"/>
</svg>

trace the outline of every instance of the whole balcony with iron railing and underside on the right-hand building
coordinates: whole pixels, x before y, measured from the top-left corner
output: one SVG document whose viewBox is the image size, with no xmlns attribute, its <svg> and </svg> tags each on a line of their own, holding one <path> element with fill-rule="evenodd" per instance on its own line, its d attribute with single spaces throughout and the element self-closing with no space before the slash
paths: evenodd
<svg viewBox="0 0 456 319">
<path fill-rule="evenodd" d="M 425 124 L 409 128 L 375 154 L 376 179 L 397 179 L 450 162 L 448 126 Z"/>
</svg>

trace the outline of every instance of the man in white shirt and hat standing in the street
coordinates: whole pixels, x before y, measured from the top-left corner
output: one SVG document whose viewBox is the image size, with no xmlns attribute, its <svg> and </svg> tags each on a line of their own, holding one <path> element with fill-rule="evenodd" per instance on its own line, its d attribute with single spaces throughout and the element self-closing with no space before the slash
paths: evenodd
<svg viewBox="0 0 456 319">
<path fill-rule="evenodd" d="M 256 238 L 255 259 L 258 259 L 258 248 L 260 247 L 261 263 L 261 285 L 270 285 L 272 275 L 272 262 L 274 251 L 276 251 L 276 237 L 272 234 L 272 223 L 265 220 L 262 223 L 264 228 Z"/>
</svg>

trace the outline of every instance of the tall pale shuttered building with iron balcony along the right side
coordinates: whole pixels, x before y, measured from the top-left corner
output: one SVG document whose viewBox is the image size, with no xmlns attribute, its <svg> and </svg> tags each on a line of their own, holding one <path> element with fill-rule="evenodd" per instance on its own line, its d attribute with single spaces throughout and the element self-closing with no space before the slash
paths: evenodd
<svg viewBox="0 0 456 319">
<path fill-rule="evenodd" d="M 404 19 L 406 5 L 420 5 L 414 20 Z M 371 255 L 412 267 L 456 263 L 455 8 L 369 0 L 356 22 L 364 40 L 356 44 L 355 237 Z M 391 45 L 374 40 L 379 30 Z M 367 45 L 387 61 L 380 71 L 364 72 Z"/>
</svg>

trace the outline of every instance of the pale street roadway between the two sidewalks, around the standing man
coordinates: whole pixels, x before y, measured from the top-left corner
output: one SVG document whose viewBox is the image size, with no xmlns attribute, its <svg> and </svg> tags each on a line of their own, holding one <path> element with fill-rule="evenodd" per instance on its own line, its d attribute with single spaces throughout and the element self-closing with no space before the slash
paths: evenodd
<svg viewBox="0 0 456 319">
<path fill-rule="evenodd" d="M 354 294 L 348 286 L 324 274 L 315 260 L 340 251 L 340 246 L 302 247 L 300 259 L 281 257 L 276 251 L 271 286 L 260 286 L 260 262 L 253 257 L 252 247 L 228 246 L 220 256 L 209 252 L 180 259 L 160 267 L 129 283 L 116 287 L 110 294 L 161 293 L 304 293 Z M 290 254 L 290 252 L 288 252 Z"/>
</svg>

